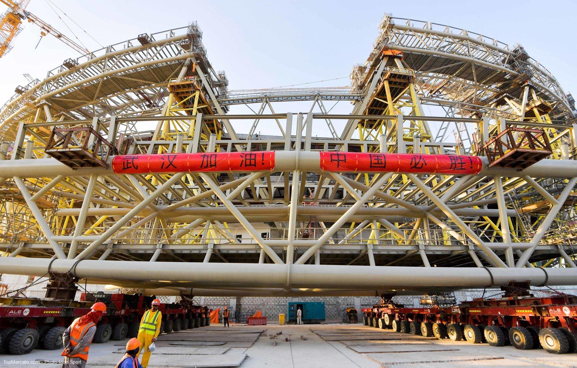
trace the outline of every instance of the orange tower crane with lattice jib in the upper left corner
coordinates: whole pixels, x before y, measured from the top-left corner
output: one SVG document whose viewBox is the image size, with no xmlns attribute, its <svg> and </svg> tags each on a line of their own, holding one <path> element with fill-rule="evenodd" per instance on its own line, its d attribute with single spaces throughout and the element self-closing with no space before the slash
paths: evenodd
<svg viewBox="0 0 577 368">
<path fill-rule="evenodd" d="M 20 33 L 20 31 L 22 31 L 21 24 L 25 19 L 40 27 L 40 37 L 53 35 L 63 43 L 67 44 L 70 48 L 80 52 L 80 54 L 90 53 L 90 51 L 84 46 L 80 46 L 69 37 L 63 35 L 63 33 L 58 32 L 47 22 L 44 22 L 39 17 L 25 10 L 30 0 L 21 0 L 20 2 L 0 0 L 0 2 L 9 7 L 6 13 L 3 14 L 2 20 L 0 20 L 0 58 L 12 50 L 12 40 L 18 35 L 18 33 Z"/>
</svg>

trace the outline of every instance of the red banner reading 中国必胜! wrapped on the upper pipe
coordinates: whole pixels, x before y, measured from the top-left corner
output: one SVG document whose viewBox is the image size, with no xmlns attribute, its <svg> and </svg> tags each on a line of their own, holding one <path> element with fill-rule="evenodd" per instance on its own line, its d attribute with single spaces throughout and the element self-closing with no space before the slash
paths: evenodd
<svg viewBox="0 0 577 368">
<path fill-rule="evenodd" d="M 481 167 L 481 158 L 478 156 L 321 152 L 321 170 L 323 171 L 392 171 L 463 175 L 478 174 Z"/>
</svg>

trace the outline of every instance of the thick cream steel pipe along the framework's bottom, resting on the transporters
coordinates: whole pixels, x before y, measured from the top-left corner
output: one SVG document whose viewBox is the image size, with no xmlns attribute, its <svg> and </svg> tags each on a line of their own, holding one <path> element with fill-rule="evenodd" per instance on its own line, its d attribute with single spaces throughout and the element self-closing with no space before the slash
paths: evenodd
<svg viewBox="0 0 577 368">
<path fill-rule="evenodd" d="M 14 275 L 42 276 L 48 271 L 48 258 L 0 257 L 0 272 Z M 54 272 L 68 272 L 74 260 L 55 260 Z M 414 267 L 344 266 L 344 265 L 286 265 L 286 264 L 211 264 L 202 262 L 127 262 L 83 260 L 76 265 L 76 275 L 90 279 L 125 281 L 189 281 L 214 284 L 219 287 L 283 287 L 286 268 L 291 268 L 294 288 L 437 288 L 488 287 L 491 276 L 484 268 L 427 267 L 415 272 Z M 546 274 L 545 274 L 546 272 Z M 529 281 L 533 286 L 548 279 L 550 285 L 574 285 L 575 268 L 492 268 L 494 285 L 510 281 Z"/>
</svg>

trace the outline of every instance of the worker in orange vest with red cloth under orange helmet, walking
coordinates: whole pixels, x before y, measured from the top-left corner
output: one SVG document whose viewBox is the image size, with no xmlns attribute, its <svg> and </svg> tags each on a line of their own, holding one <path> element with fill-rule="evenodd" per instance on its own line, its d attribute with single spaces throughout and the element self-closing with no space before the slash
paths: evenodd
<svg viewBox="0 0 577 368">
<path fill-rule="evenodd" d="M 62 335 L 64 362 L 62 368 L 84 368 L 88 361 L 88 350 L 96 333 L 96 324 L 106 313 L 106 304 L 94 303 L 87 314 L 76 318 Z"/>
</svg>

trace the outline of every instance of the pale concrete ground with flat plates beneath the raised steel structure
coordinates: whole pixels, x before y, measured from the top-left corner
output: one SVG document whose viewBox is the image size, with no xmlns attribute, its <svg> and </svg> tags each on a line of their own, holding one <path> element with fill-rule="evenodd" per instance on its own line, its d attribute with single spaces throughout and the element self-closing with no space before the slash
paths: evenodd
<svg viewBox="0 0 577 368">
<path fill-rule="evenodd" d="M 114 367 L 125 341 L 92 344 L 88 366 Z M 362 324 L 213 324 L 163 334 L 148 367 L 577 367 L 577 354 L 437 340 Z M 0 355 L 0 367 L 56 368 L 60 351 Z M 40 363 L 42 361 L 42 363 Z"/>
</svg>

